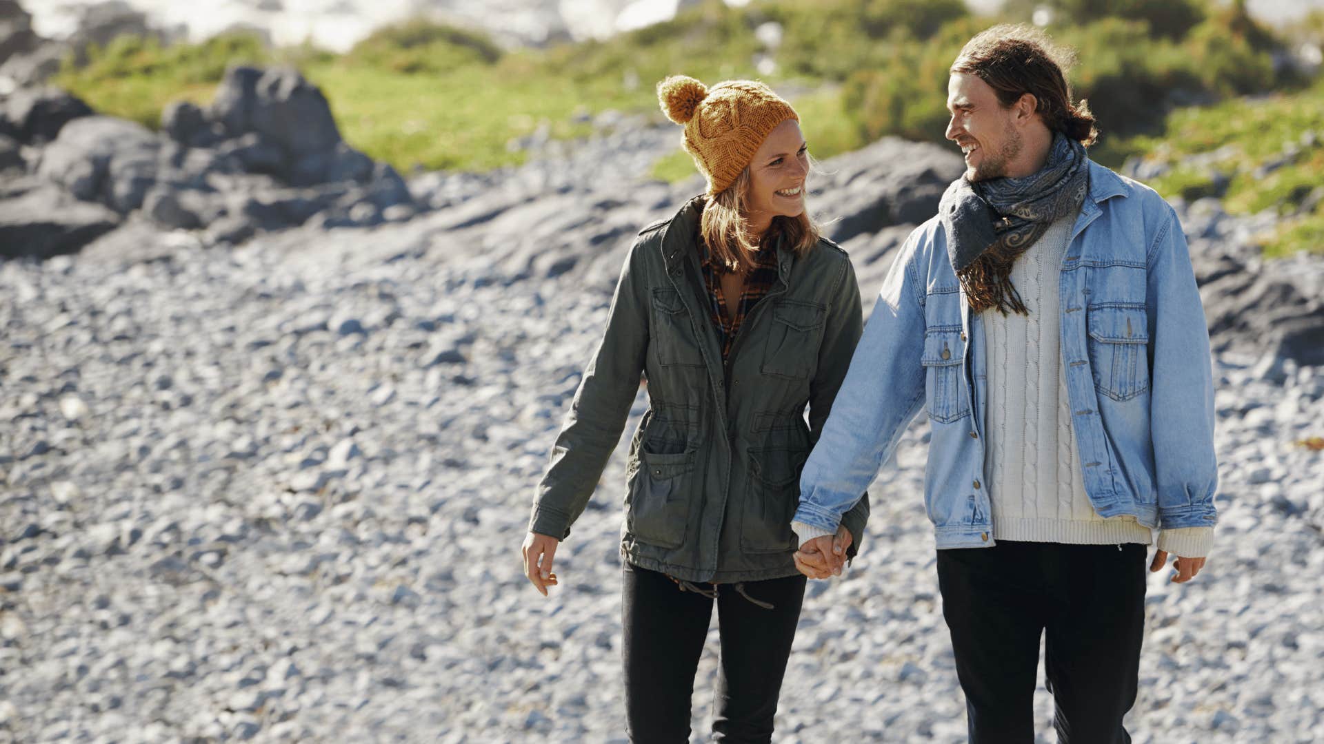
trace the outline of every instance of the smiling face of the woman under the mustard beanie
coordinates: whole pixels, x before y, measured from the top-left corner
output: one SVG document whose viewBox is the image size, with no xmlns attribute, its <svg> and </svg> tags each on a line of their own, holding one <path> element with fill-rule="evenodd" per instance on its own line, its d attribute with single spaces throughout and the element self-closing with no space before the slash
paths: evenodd
<svg viewBox="0 0 1324 744">
<path fill-rule="evenodd" d="M 767 230 L 773 217 L 796 217 L 805 210 L 808 175 L 809 146 L 800 122 L 786 119 L 768 132 L 749 162 L 745 220 L 756 234 Z"/>
</svg>

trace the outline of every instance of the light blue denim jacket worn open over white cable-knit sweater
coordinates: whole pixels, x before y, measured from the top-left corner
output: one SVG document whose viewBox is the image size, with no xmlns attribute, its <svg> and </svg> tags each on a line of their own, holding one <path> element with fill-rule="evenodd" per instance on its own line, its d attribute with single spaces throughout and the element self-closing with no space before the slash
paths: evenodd
<svg viewBox="0 0 1324 744">
<path fill-rule="evenodd" d="M 1153 189 L 1090 163 L 1061 267 L 1062 359 L 1084 487 L 1100 516 L 1152 528 L 1215 520 L 1209 331 L 1186 238 Z M 984 474 L 981 319 L 933 217 L 906 240 L 805 463 L 794 522 L 835 531 L 920 408 L 937 547 L 993 545 Z"/>
</svg>

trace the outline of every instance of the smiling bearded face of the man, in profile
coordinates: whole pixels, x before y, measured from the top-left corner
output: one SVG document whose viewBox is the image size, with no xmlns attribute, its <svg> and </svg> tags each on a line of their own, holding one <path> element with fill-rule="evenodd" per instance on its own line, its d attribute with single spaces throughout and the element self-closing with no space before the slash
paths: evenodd
<svg viewBox="0 0 1324 744">
<path fill-rule="evenodd" d="M 952 73 L 947 81 L 947 139 L 965 155 L 965 176 L 982 181 L 1006 175 L 1008 163 L 1021 154 L 1021 132 L 1013 110 L 977 75 Z"/>
</svg>

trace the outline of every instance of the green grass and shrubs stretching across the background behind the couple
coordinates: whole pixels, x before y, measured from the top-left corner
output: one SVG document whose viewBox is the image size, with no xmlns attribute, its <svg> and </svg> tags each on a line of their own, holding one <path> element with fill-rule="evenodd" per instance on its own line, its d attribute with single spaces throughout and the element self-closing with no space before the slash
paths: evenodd
<svg viewBox="0 0 1324 744">
<path fill-rule="evenodd" d="M 1230 146 L 1219 162 L 1173 168 L 1152 185 L 1186 199 L 1222 192 L 1233 212 L 1278 209 L 1291 221 L 1266 236 L 1267 253 L 1324 252 L 1321 209 L 1300 207 L 1324 172 L 1324 150 L 1303 147 L 1291 163 L 1255 176 L 1288 143 L 1300 144 L 1304 131 L 1324 140 L 1324 82 L 1307 89 L 1275 71 L 1278 41 L 1243 8 L 1217 0 L 1047 1 L 1063 11 L 1050 33 L 1079 50 L 1075 93 L 1091 99 L 1104 130 L 1092 150 L 1098 160 L 1117 167 L 1144 155 L 1177 163 Z M 1023 20 L 1038 4 L 1018 0 L 1006 12 Z M 654 85 L 667 74 L 710 83 L 753 77 L 792 99 L 810 151 L 830 158 L 887 134 L 941 140 L 947 68 L 965 40 L 994 21 L 969 16 L 961 0 L 755 0 L 741 8 L 704 0 L 612 40 L 524 52 L 421 20 L 379 29 L 346 54 L 266 49 L 244 33 L 164 48 L 123 37 L 91 49 L 82 65 L 68 60 L 54 82 L 98 111 L 156 127 L 171 101 L 208 103 L 232 64 L 294 65 L 322 87 L 346 140 L 409 172 L 519 164 L 527 151 L 512 143 L 520 138 L 584 136 L 592 130 L 585 120 L 606 110 L 662 122 Z M 767 23 L 780 24 L 784 37 L 772 54 L 775 71 L 760 75 L 757 61 L 769 50 L 755 32 Z M 1317 42 L 1324 13 L 1288 30 L 1292 42 Z M 1280 93 L 1237 98 L 1267 90 Z M 1173 91 L 1223 102 L 1164 116 Z M 675 152 L 653 169 L 671 181 L 695 172 L 675 131 Z"/>
</svg>

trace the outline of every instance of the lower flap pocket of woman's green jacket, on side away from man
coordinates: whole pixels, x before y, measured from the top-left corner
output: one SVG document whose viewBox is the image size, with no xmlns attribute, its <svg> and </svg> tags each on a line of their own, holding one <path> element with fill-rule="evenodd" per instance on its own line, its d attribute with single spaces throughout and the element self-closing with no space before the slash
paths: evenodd
<svg viewBox="0 0 1324 744">
<path fill-rule="evenodd" d="M 629 479 L 625 528 L 641 543 L 662 548 L 685 544 L 690 518 L 686 487 L 694 471 L 694 451 L 654 454 L 639 450 L 638 466 Z"/>
</svg>

